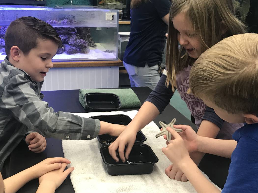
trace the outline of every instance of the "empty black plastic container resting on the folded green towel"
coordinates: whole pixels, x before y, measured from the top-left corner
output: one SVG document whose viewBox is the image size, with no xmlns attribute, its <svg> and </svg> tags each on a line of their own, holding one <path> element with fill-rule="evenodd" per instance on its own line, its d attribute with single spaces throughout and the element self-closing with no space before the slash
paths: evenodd
<svg viewBox="0 0 258 193">
<path fill-rule="evenodd" d="M 117 111 L 121 108 L 121 102 L 116 94 L 87 93 L 84 99 L 88 112 Z"/>
</svg>

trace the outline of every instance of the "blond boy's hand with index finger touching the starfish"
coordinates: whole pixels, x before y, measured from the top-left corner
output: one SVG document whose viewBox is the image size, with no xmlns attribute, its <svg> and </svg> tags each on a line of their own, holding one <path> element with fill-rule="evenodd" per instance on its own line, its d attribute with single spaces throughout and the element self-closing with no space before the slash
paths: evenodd
<svg viewBox="0 0 258 193">
<path fill-rule="evenodd" d="M 162 152 L 167 156 L 167 158 L 176 166 L 180 163 L 184 163 L 188 159 L 191 159 L 186 146 L 184 145 L 183 138 L 172 128 L 166 128 L 174 139 L 172 139 L 167 147 L 162 148 Z"/>
</svg>

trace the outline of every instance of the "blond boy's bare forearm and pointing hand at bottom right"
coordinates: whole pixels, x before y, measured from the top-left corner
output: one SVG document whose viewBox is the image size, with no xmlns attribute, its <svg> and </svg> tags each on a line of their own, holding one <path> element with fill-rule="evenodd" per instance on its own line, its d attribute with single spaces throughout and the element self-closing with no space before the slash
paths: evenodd
<svg viewBox="0 0 258 193">
<path fill-rule="evenodd" d="M 221 192 L 201 173 L 197 165 L 191 160 L 188 150 L 184 145 L 184 139 L 173 129 L 167 127 L 173 140 L 167 147 L 163 147 L 163 153 L 168 159 L 186 175 L 197 192 Z"/>
</svg>

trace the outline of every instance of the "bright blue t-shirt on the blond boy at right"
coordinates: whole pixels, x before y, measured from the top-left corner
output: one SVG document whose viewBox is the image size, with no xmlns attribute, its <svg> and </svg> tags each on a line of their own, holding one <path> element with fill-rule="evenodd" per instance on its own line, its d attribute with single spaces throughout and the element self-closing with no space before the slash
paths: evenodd
<svg viewBox="0 0 258 193">
<path fill-rule="evenodd" d="M 258 192 L 258 124 L 245 125 L 232 137 L 237 146 L 222 192 Z"/>
</svg>

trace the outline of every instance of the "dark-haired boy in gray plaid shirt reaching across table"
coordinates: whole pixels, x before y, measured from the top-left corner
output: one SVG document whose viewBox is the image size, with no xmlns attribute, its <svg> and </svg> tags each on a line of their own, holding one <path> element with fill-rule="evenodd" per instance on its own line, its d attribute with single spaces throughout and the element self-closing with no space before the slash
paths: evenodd
<svg viewBox="0 0 258 193">
<path fill-rule="evenodd" d="M 0 169 L 4 160 L 26 133 L 28 148 L 45 149 L 43 136 L 57 139 L 93 139 L 97 135 L 118 136 L 125 126 L 54 112 L 42 101 L 44 77 L 53 67 L 52 58 L 62 40 L 55 29 L 35 17 L 21 17 L 5 33 L 7 57 L 0 65 Z"/>
</svg>

